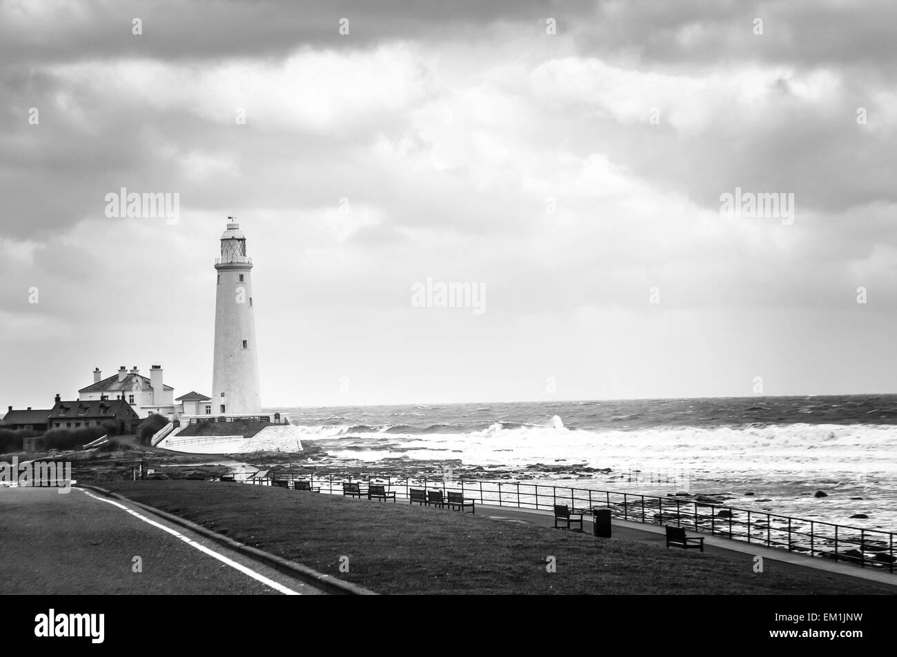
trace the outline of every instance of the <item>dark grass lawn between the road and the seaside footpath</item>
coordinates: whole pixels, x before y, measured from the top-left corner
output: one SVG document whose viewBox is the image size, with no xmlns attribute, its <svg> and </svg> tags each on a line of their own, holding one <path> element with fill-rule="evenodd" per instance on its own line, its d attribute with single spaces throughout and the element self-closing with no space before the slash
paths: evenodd
<svg viewBox="0 0 897 657">
<path fill-rule="evenodd" d="M 212 481 L 103 486 L 380 593 L 869 594 L 817 573 L 754 574 L 693 550 L 597 539 L 422 506 Z M 349 572 L 339 572 L 341 557 Z M 548 557 L 556 572 L 546 570 Z"/>
</svg>

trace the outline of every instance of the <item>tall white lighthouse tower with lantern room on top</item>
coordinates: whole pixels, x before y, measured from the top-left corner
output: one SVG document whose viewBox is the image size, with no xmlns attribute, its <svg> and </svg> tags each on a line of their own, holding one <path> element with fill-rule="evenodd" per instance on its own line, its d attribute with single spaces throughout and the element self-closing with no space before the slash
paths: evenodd
<svg viewBox="0 0 897 657">
<path fill-rule="evenodd" d="M 228 217 L 222 256 L 215 260 L 215 355 L 212 370 L 214 415 L 258 415 L 256 320 L 252 303 L 252 258 L 236 217 Z"/>
</svg>

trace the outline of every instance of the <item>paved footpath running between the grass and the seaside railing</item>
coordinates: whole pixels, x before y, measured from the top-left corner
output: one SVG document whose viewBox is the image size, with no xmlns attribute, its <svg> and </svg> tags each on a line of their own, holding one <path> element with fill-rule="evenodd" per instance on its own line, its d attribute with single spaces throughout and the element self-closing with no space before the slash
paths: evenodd
<svg viewBox="0 0 897 657">
<path fill-rule="evenodd" d="M 477 505 L 476 514 L 482 514 L 487 518 L 506 523 L 530 523 L 542 527 L 554 526 L 554 516 L 549 511 L 524 510 L 509 506 Z M 583 529 L 591 534 L 593 531 L 592 522 L 588 514 L 583 517 L 585 520 Z M 612 525 L 614 539 L 638 540 L 661 547 L 666 546 L 666 530 L 659 525 L 632 523 L 616 519 L 614 519 Z M 756 543 L 724 539 L 718 536 L 710 536 L 703 532 L 688 532 L 688 534 L 689 536 L 705 536 L 704 551 L 709 554 L 725 554 L 729 558 L 744 559 L 752 566 L 754 556 L 760 555 L 763 558 L 763 568 L 766 572 L 773 568 L 783 572 L 802 573 L 822 570 L 839 579 L 849 579 L 854 582 L 858 579 L 865 580 L 870 584 L 874 583 L 897 592 L 897 573 L 891 574 L 878 568 L 861 568 L 843 562 L 835 562 L 831 559 L 809 557 L 796 552 L 788 552 L 787 550 L 766 548 Z"/>
</svg>

